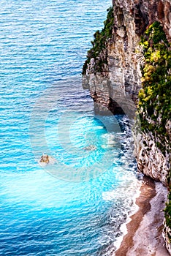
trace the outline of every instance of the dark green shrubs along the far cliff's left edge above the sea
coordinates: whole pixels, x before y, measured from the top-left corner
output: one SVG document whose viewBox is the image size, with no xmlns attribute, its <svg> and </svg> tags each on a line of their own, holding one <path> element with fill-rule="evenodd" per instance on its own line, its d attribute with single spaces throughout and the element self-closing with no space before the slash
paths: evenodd
<svg viewBox="0 0 171 256">
<path fill-rule="evenodd" d="M 87 65 L 90 63 L 91 58 L 95 60 L 95 67 L 94 69 L 96 72 L 102 72 L 103 64 L 107 64 L 107 56 L 104 56 L 104 59 L 98 58 L 99 54 L 102 50 L 104 50 L 106 46 L 107 39 L 112 37 L 112 30 L 113 30 L 113 7 L 107 9 L 107 19 L 104 21 L 104 28 L 102 31 L 97 30 L 94 33 L 94 41 L 91 41 L 93 47 L 88 50 L 87 59 L 85 64 L 83 65 L 83 75 L 86 75 Z"/>
</svg>

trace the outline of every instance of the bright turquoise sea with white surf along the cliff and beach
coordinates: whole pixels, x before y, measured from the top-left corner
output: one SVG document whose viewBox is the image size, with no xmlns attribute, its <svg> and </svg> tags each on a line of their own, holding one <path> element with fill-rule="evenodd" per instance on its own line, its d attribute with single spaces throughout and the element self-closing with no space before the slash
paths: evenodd
<svg viewBox="0 0 171 256">
<path fill-rule="evenodd" d="M 94 115 L 80 76 L 110 5 L 0 2 L 0 255 L 114 251 L 137 189 L 132 140 L 125 117 Z"/>
</svg>

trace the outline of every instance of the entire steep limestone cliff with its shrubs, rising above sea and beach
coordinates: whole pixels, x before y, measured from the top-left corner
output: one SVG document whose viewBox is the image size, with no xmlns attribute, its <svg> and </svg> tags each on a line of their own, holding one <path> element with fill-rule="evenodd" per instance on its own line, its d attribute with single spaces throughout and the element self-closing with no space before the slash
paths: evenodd
<svg viewBox="0 0 171 256">
<path fill-rule="evenodd" d="M 113 0 L 109 12 L 88 51 L 83 86 L 90 89 L 96 111 L 132 116 L 137 108 L 137 166 L 169 188 L 171 1 Z M 170 209 L 171 197 L 164 222 L 171 254 Z"/>
</svg>

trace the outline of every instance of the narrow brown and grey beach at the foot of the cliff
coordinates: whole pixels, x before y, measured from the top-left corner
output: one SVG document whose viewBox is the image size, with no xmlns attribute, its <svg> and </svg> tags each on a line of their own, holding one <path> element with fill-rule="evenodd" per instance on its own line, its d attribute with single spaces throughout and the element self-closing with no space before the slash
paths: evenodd
<svg viewBox="0 0 171 256">
<path fill-rule="evenodd" d="M 144 177 L 136 204 L 138 211 L 126 225 L 127 233 L 115 256 L 168 256 L 162 228 L 167 188 L 160 182 Z M 113 255 L 113 256 L 114 256 Z"/>
</svg>

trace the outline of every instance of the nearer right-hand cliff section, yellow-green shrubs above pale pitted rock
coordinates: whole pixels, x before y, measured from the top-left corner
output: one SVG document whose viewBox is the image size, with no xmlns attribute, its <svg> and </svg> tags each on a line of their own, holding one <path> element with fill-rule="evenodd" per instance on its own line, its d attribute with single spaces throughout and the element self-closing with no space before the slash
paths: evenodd
<svg viewBox="0 0 171 256">
<path fill-rule="evenodd" d="M 141 133 L 137 135 L 137 165 L 143 173 L 170 184 L 171 52 L 161 23 L 145 31 L 140 45 L 144 51 L 142 89 L 138 113 Z"/>
</svg>

